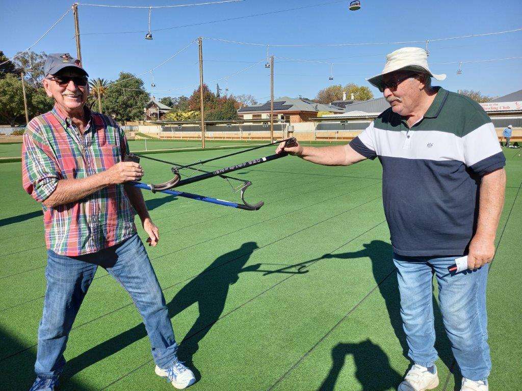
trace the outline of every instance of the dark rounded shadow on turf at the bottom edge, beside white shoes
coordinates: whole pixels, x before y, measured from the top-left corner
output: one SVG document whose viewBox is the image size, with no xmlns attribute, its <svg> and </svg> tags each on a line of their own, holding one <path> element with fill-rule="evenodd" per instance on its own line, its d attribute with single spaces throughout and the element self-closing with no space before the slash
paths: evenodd
<svg viewBox="0 0 522 391">
<path fill-rule="evenodd" d="M 317 391 L 333 391 L 346 357 L 353 356 L 355 378 L 362 391 L 385 391 L 395 387 L 402 380 L 401 375 L 389 363 L 388 356 L 370 339 L 358 344 L 339 343 L 331 349 L 332 365 L 321 387 Z"/>
</svg>

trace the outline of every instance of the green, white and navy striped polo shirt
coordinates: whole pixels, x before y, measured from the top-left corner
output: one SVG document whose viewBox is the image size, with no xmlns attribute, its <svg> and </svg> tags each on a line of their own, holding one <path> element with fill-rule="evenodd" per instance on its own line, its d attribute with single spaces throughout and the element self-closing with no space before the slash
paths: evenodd
<svg viewBox="0 0 522 391">
<path fill-rule="evenodd" d="M 381 161 L 395 253 L 467 253 L 477 227 L 481 177 L 506 162 L 491 119 L 478 103 L 439 87 L 411 128 L 390 107 L 350 146 Z"/>
</svg>

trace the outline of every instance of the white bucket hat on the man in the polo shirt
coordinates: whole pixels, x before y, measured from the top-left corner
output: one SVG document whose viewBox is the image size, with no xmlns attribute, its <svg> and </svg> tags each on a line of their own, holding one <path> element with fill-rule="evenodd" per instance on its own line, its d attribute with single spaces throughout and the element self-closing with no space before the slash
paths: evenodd
<svg viewBox="0 0 522 391">
<path fill-rule="evenodd" d="M 401 47 L 395 52 L 386 55 L 386 65 L 381 74 L 366 79 L 379 88 L 383 76 L 398 70 L 425 71 L 437 80 L 444 80 L 446 75 L 436 75 L 428 67 L 428 55 L 421 47 Z"/>
</svg>

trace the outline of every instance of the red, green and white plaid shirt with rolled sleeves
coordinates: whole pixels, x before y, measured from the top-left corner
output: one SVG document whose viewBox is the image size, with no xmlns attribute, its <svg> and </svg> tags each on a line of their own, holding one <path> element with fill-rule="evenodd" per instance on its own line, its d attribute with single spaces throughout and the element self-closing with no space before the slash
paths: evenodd
<svg viewBox="0 0 522 391">
<path fill-rule="evenodd" d="M 23 188 L 38 202 L 56 189 L 60 179 L 101 173 L 122 161 L 128 150 L 116 122 L 90 112 L 84 134 L 57 106 L 33 118 L 22 145 Z M 86 198 L 43 207 L 47 248 L 67 256 L 102 250 L 134 235 L 134 209 L 123 185 L 112 185 Z"/>
</svg>

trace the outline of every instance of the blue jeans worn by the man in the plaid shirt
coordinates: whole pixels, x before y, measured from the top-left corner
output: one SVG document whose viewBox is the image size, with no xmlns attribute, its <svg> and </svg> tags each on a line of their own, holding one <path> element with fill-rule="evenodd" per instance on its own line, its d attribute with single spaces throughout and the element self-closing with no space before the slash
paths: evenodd
<svg viewBox="0 0 522 391">
<path fill-rule="evenodd" d="M 34 364 L 37 376 L 52 378 L 62 372 L 70 329 L 99 265 L 134 301 L 143 317 L 156 364 L 161 368 L 173 365 L 177 344 L 167 306 L 147 251 L 136 234 L 92 254 L 69 257 L 48 250 L 47 288 Z"/>
</svg>

